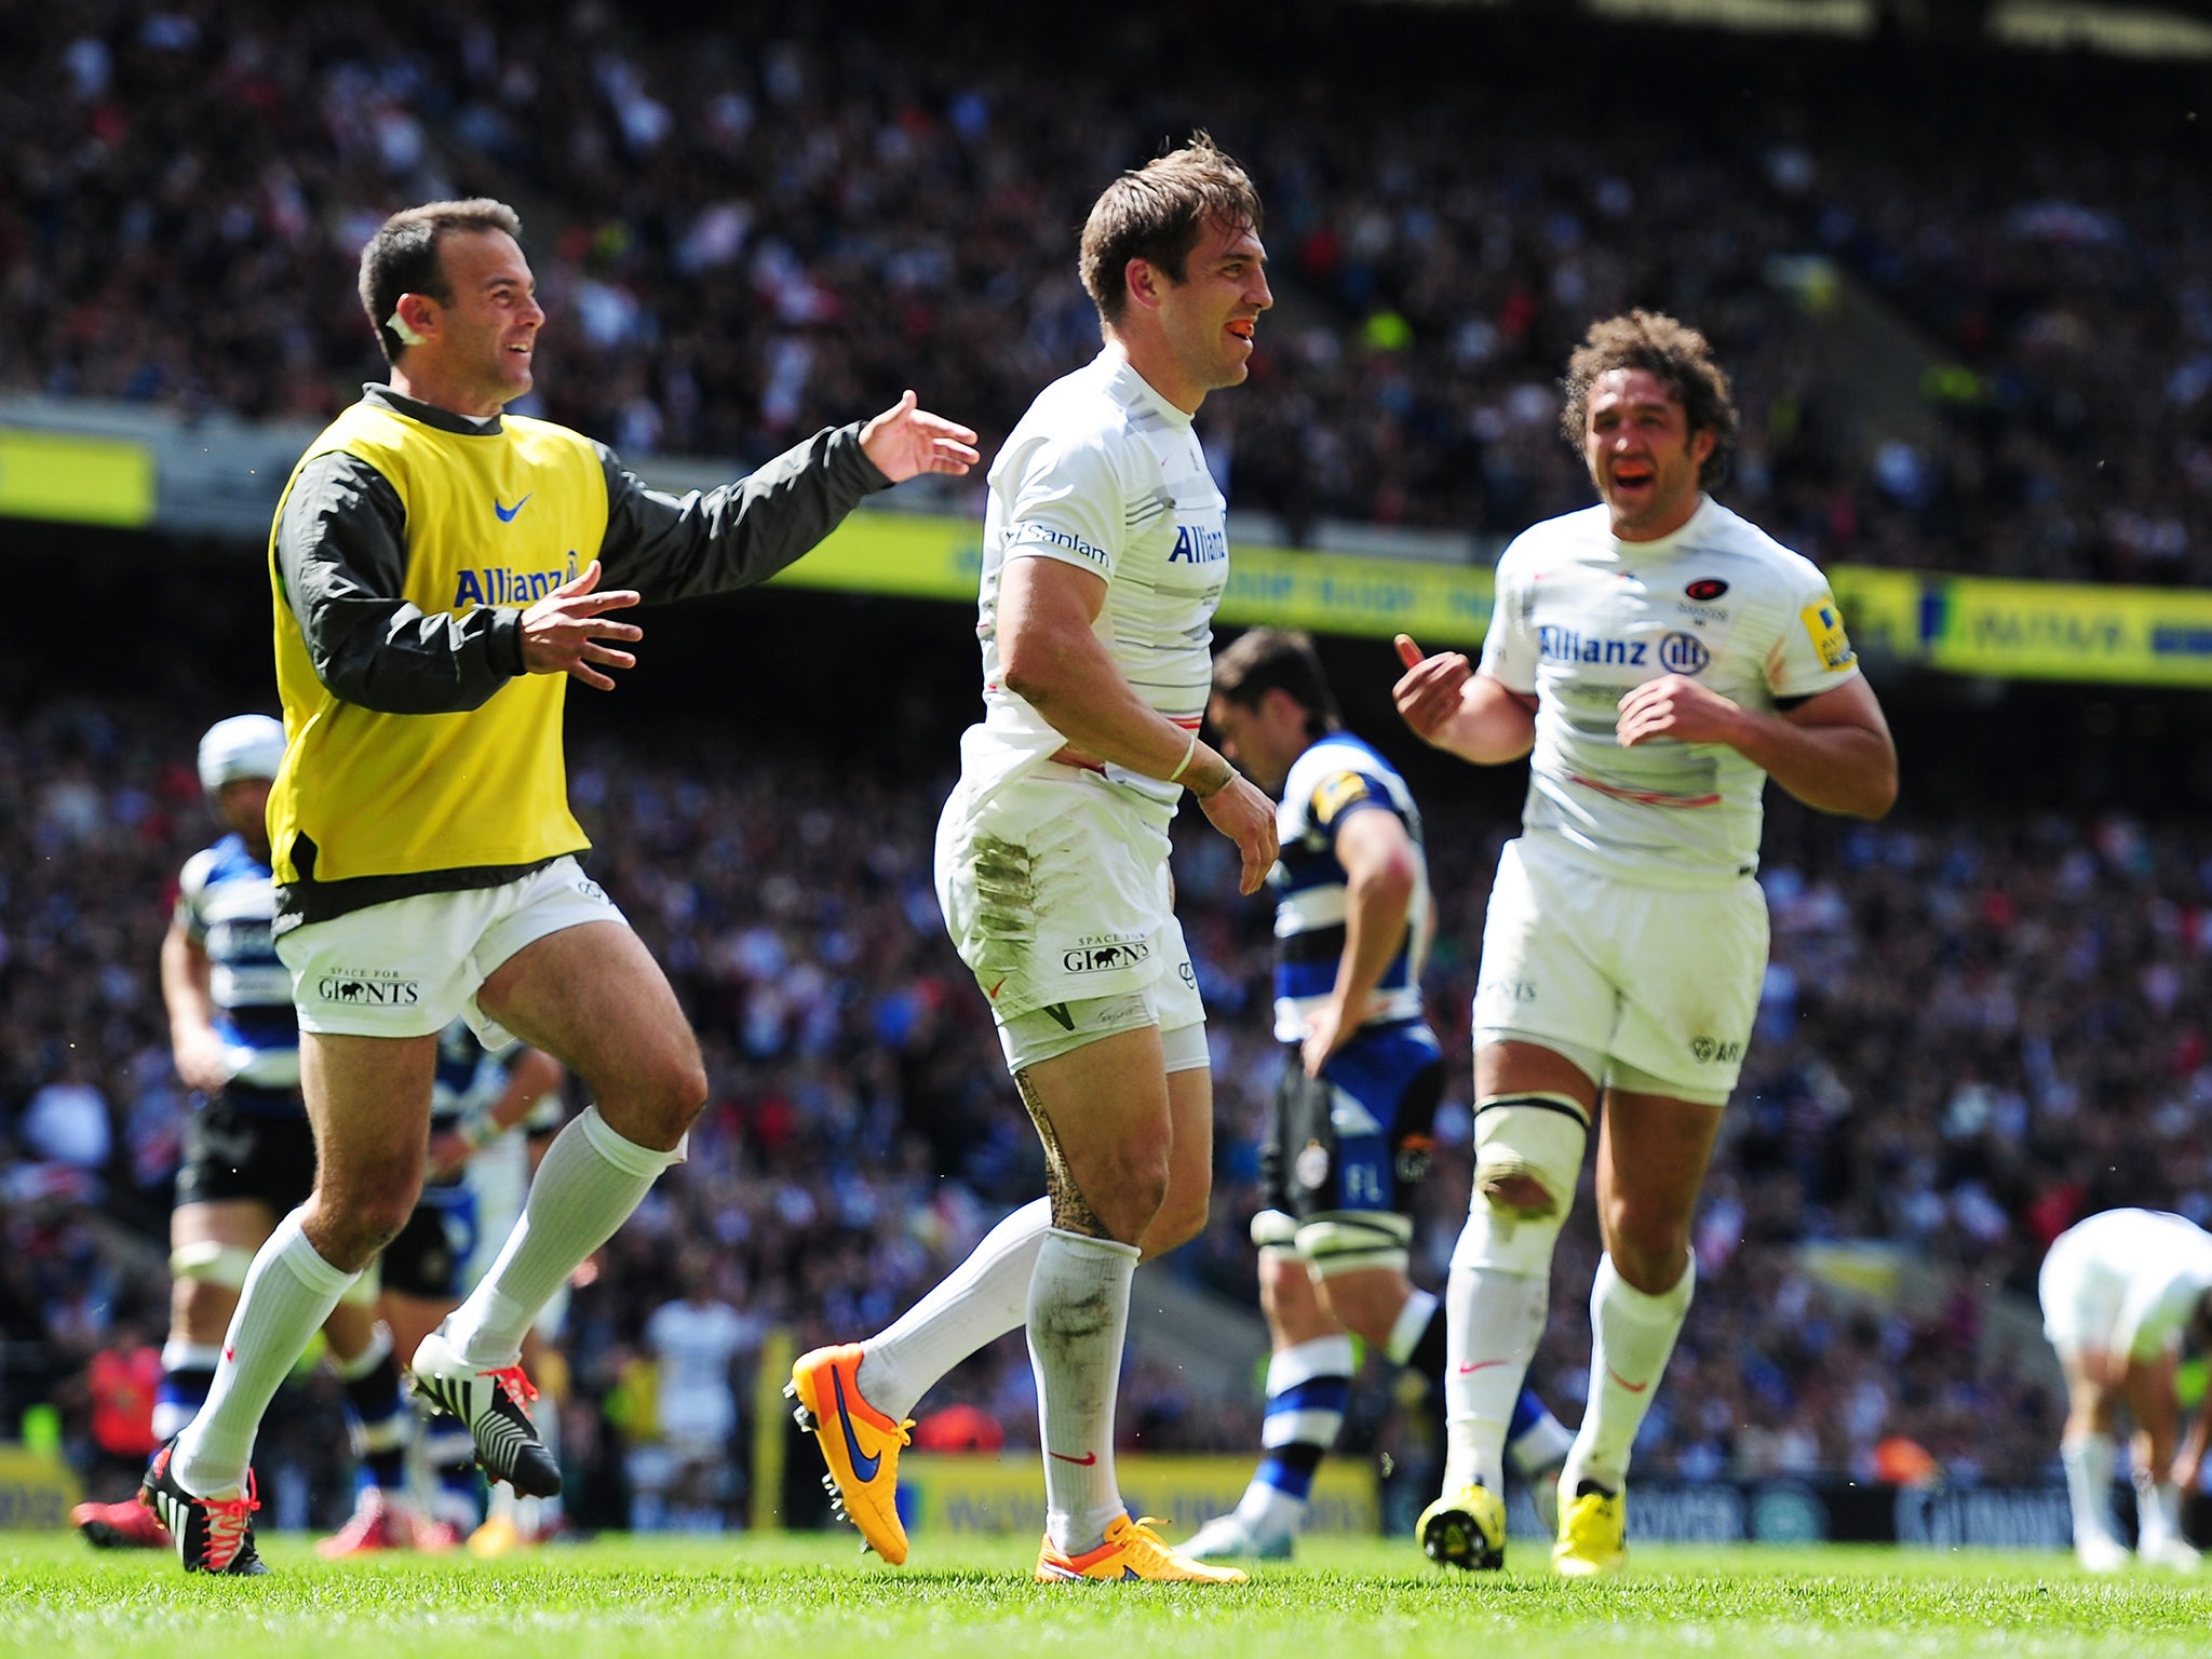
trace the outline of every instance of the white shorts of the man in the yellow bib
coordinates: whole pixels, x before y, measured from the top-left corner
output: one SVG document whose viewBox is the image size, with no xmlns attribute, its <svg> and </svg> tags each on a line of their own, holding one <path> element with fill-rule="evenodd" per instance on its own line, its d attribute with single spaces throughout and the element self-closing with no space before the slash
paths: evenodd
<svg viewBox="0 0 2212 1659">
<path fill-rule="evenodd" d="M 294 927 L 276 940 L 299 1029 L 338 1037 L 429 1037 L 465 1015 L 487 1048 L 515 1037 L 476 1006 L 507 958 L 584 922 L 622 922 L 575 858 L 500 887 L 416 894 Z"/>
</svg>

